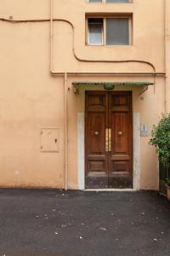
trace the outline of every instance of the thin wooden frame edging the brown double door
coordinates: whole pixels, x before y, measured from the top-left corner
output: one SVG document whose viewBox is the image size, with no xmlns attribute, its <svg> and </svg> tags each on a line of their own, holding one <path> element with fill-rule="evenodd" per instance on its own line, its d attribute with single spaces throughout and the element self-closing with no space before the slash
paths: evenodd
<svg viewBox="0 0 170 256">
<path fill-rule="evenodd" d="M 93 93 L 99 93 L 103 90 L 85 90 L 85 109 L 84 109 L 84 186 L 86 187 L 85 183 L 85 177 L 86 177 L 86 160 L 87 160 L 87 146 L 86 146 L 86 141 L 87 141 L 87 113 L 86 113 L 86 106 L 87 106 L 87 101 L 86 101 L 86 94 L 88 92 Z M 106 91 L 105 91 L 106 92 Z M 109 92 L 108 96 L 109 96 Z M 132 189 L 133 189 L 133 91 L 132 90 L 116 90 L 116 91 L 111 91 L 111 93 L 114 95 L 121 95 L 121 94 L 127 94 L 130 95 L 131 98 L 131 104 L 130 104 L 130 133 L 131 133 L 131 140 L 130 140 L 130 148 L 131 148 L 131 168 L 132 168 Z"/>
</svg>

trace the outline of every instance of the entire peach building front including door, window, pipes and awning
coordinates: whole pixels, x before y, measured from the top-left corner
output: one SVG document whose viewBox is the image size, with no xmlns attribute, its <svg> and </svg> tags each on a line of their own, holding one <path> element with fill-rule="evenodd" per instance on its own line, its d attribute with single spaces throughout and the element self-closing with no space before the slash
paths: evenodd
<svg viewBox="0 0 170 256">
<path fill-rule="evenodd" d="M 2 0 L 0 186 L 158 189 L 170 0 Z"/>
</svg>

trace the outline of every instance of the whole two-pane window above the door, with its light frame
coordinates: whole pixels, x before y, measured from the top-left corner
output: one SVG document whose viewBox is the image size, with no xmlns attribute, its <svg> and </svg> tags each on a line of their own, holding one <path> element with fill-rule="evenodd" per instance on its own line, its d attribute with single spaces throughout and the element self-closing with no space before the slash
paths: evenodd
<svg viewBox="0 0 170 256">
<path fill-rule="evenodd" d="M 89 45 L 128 45 L 132 44 L 131 17 L 88 17 Z"/>
</svg>

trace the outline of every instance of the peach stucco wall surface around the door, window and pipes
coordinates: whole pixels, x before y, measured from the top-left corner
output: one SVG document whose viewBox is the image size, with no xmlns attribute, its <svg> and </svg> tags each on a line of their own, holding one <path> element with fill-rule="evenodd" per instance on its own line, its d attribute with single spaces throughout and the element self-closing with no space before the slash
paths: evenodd
<svg viewBox="0 0 170 256">
<path fill-rule="evenodd" d="M 49 1 L 1 0 L 0 18 L 46 20 L 50 18 Z M 133 15 L 133 45 L 87 46 L 85 15 L 89 13 L 130 13 Z M 12 16 L 12 18 L 11 18 Z M 9 18 L 10 17 L 10 18 Z M 54 72 L 153 72 L 144 63 L 91 63 L 86 60 L 149 61 L 156 72 L 165 67 L 164 4 L 161 0 L 134 0 L 127 4 L 87 3 L 85 0 L 54 0 L 52 64 Z M 50 23 L 0 21 L 0 186 L 64 187 L 64 76 L 49 72 Z M 167 31 L 169 45 L 169 31 Z M 167 52 L 167 62 L 170 54 Z M 167 70 L 170 70 L 167 68 Z M 78 189 L 77 114 L 84 111 L 84 90 L 75 95 L 72 81 L 149 81 L 153 76 L 68 76 L 68 187 Z M 156 76 L 155 87 L 120 87 L 133 90 L 133 112 L 140 113 L 141 123 L 156 124 L 166 110 L 164 76 Z M 98 88 L 93 88 L 96 90 Z M 59 152 L 42 153 L 41 128 L 59 128 Z M 149 137 L 141 137 L 140 189 L 158 188 L 155 149 Z"/>
</svg>

